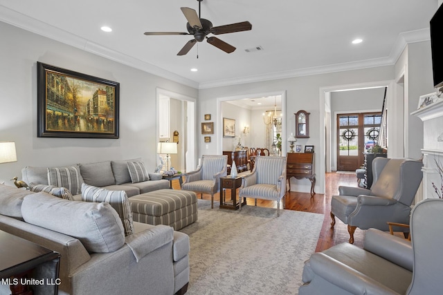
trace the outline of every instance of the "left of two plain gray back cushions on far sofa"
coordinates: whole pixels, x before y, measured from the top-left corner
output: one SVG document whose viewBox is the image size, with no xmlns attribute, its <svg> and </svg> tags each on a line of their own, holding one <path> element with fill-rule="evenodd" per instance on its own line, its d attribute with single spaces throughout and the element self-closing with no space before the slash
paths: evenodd
<svg viewBox="0 0 443 295">
<path fill-rule="evenodd" d="M 111 161 L 97 162 L 90 164 L 80 164 L 80 172 L 84 183 L 94 187 L 106 187 L 116 184 L 112 173 Z"/>
</svg>

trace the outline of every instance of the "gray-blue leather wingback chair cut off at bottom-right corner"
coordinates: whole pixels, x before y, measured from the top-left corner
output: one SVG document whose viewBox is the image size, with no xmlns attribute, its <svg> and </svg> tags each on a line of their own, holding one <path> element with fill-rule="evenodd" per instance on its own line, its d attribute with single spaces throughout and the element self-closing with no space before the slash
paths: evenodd
<svg viewBox="0 0 443 295">
<path fill-rule="evenodd" d="M 442 294 L 442 212 L 441 199 L 416 204 L 411 242 L 368 229 L 363 249 L 344 242 L 312 254 L 298 294 Z"/>
</svg>

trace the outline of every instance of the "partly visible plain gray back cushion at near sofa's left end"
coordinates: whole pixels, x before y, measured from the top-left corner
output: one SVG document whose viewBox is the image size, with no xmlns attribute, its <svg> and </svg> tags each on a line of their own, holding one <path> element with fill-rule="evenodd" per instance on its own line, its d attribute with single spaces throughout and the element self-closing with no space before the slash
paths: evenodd
<svg viewBox="0 0 443 295">
<path fill-rule="evenodd" d="M 33 194 L 33 192 L 0 184 L 0 214 L 23 220 L 21 202 L 23 202 L 24 197 L 30 194 Z"/>
</svg>

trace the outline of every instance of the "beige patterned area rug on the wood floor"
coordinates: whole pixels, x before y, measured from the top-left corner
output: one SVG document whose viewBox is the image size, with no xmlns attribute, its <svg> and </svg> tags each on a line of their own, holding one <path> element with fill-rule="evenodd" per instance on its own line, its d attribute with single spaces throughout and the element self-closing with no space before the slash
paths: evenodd
<svg viewBox="0 0 443 295">
<path fill-rule="evenodd" d="M 314 253 L 323 214 L 246 206 L 210 209 L 198 200 L 190 236 L 190 285 L 196 294 L 298 294 L 305 260 Z"/>
</svg>

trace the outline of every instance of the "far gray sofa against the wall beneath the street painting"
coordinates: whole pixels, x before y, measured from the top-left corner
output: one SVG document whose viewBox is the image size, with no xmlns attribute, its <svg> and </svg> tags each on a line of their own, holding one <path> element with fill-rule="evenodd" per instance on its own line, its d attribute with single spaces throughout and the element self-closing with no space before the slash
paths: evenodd
<svg viewBox="0 0 443 295">
<path fill-rule="evenodd" d="M 125 191 L 128 198 L 141 193 L 170 188 L 169 180 L 163 180 L 159 173 L 148 173 L 149 180 L 133 183 L 131 175 L 129 175 L 127 162 L 141 162 L 141 159 L 72 164 L 65 166 L 65 168 L 75 167 L 80 171 L 80 175 L 78 175 L 80 184 L 84 182 L 111 191 Z M 48 168 L 50 167 L 26 166 L 21 169 L 21 178 L 27 184 L 49 184 Z M 71 193 L 74 200 L 81 200 L 79 191 L 71 191 Z"/>
</svg>

